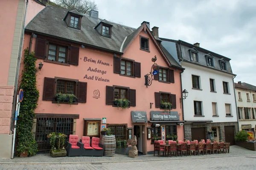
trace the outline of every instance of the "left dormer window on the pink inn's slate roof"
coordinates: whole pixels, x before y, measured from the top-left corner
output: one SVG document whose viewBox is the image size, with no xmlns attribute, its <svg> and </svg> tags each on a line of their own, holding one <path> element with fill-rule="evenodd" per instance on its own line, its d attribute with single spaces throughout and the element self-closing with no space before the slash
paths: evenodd
<svg viewBox="0 0 256 170">
<path fill-rule="evenodd" d="M 64 21 L 67 23 L 67 26 L 69 27 L 81 29 L 82 17 L 83 16 L 74 9 L 67 12 L 66 16 L 64 17 Z"/>
</svg>

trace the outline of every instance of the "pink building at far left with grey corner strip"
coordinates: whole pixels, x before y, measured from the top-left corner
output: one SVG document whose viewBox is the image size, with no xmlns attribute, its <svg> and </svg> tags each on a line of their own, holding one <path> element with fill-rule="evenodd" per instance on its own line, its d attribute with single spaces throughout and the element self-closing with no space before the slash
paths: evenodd
<svg viewBox="0 0 256 170">
<path fill-rule="evenodd" d="M 0 22 L 5 23 L 0 27 L 0 158 L 10 158 L 12 150 L 12 104 L 15 87 L 17 87 L 18 57 L 22 51 L 22 36 L 24 20 L 30 20 L 45 7 L 47 0 L 1 0 Z M 27 6 L 27 8 L 26 8 Z M 25 18 L 26 14 L 26 18 Z M 26 25 L 25 23 L 25 25 Z M 16 96 L 16 95 L 15 95 Z M 13 127 L 11 127 L 13 129 Z"/>
</svg>

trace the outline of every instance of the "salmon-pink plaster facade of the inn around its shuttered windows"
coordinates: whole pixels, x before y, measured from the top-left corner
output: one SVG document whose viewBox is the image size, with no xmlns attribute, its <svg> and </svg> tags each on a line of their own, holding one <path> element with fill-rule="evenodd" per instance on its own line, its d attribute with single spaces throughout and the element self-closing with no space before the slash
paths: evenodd
<svg viewBox="0 0 256 170">
<path fill-rule="evenodd" d="M 140 35 L 148 37 L 148 34 L 145 34 L 143 31 Z M 25 36 L 24 48 L 29 46 L 29 35 Z M 79 139 L 83 135 L 84 120 L 83 118 L 107 118 L 108 124 L 126 124 L 128 127 L 131 127 L 131 111 L 146 111 L 148 120 L 150 119 L 150 111 L 163 111 L 159 108 L 155 108 L 155 105 L 150 109 L 150 102 L 155 101 L 154 92 L 164 91 L 171 92 L 176 94 L 177 109 L 172 111 L 178 111 L 182 113 L 180 109 L 179 99 L 181 97 L 181 88 L 180 88 L 180 70 L 175 70 L 175 83 L 167 84 L 154 81 L 151 86 L 146 88 L 144 85 L 145 78 L 144 75 L 148 74 L 150 71 L 151 58 L 157 55 L 157 64 L 160 66 L 168 67 L 166 62 L 164 62 L 160 53 L 157 51 L 157 48 L 154 46 L 153 42 L 149 42 L 150 53 L 140 50 L 140 36 L 137 36 L 133 43 L 125 51 L 125 54 L 122 57 L 129 59 L 134 59 L 136 62 L 141 62 L 141 78 L 130 78 L 119 76 L 119 74 L 113 73 L 113 54 L 104 53 L 101 51 L 96 51 L 87 48 L 80 48 L 79 51 L 79 66 L 64 66 L 58 64 L 52 64 L 44 62 L 41 59 L 37 61 L 38 63 L 42 62 L 44 64 L 41 71 L 38 70 L 37 81 L 38 89 L 40 93 L 38 108 L 35 110 L 35 113 L 67 113 L 67 114 L 79 114 L 80 119 L 76 120 L 76 134 L 79 135 Z M 32 50 L 35 49 L 35 38 L 32 42 Z M 96 60 L 96 64 L 93 62 L 84 62 L 84 57 L 88 59 Z M 99 65 L 97 64 L 98 60 L 102 62 L 107 62 L 110 66 Z M 87 71 L 91 67 L 93 69 L 97 68 L 107 73 L 102 75 L 100 73 L 95 73 Z M 94 76 L 94 79 L 84 79 L 84 76 Z M 104 79 L 109 79 L 110 82 L 100 82 L 96 81 L 95 77 L 99 76 Z M 51 101 L 42 101 L 43 87 L 44 87 L 44 77 L 64 77 L 70 79 L 79 79 L 81 82 L 87 82 L 87 103 L 79 103 L 78 105 L 67 105 L 61 104 L 58 107 L 57 104 L 52 104 Z M 136 89 L 136 107 L 131 107 L 129 109 L 117 109 L 111 105 L 106 105 L 106 85 L 119 85 L 130 87 L 131 89 Z M 98 89 L 100 91 L 100 98 L 93 98 L 93 91 Z M 182 120 L 182 115 L 180 115 Z M 148 126 L 150 126 L 148 124 Z M 178 139 L 183 140 L 183 126 L 177 126 Z M 147 151 L 153 150 L 153 144 L 150 144 L 150 140 L 147 140 Z"/>
</svg>

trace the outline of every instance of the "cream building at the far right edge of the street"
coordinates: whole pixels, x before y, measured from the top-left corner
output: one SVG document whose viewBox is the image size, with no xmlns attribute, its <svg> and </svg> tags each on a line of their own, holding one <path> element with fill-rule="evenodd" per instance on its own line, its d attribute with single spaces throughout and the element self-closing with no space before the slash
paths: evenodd
<svg viewBox="0 0 256 170">
<path fill-rule="evenodd" d="M 253 131 L 255 138 L 256 86 L 238 82 L 235 83 L 235 88 L 239 130 Z"/>
</svg>

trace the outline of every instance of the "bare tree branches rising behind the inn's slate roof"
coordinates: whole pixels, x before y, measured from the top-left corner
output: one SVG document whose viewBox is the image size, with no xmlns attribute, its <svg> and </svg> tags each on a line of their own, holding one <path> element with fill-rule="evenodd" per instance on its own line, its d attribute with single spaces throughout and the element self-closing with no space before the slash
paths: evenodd
<svg viewBox="0 0 256 170">
<path fill-rule="evenodd" d="M 98 9 L 94 0 L 55 0 L 55 3 L 68 10 L 76 9 L 81 14 L 88 14 L 91 9 Z"/>
</svg>

